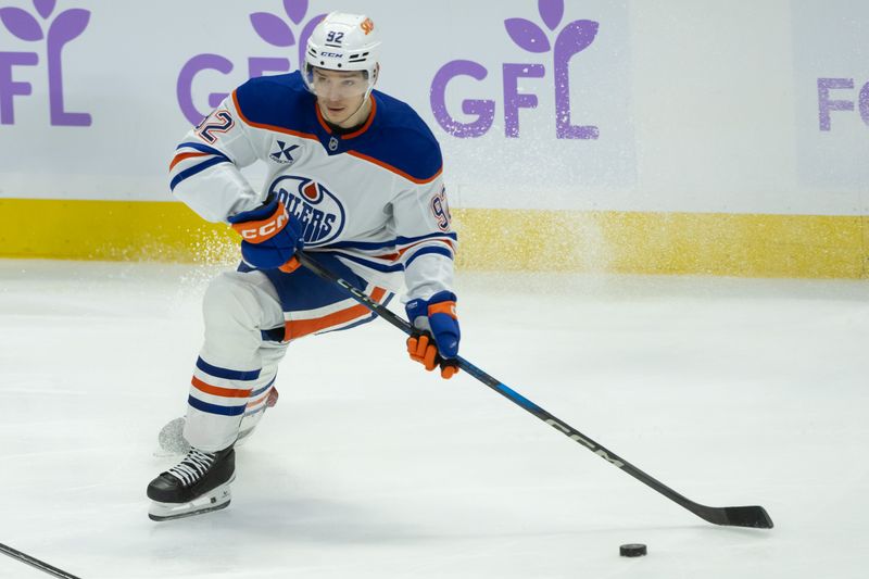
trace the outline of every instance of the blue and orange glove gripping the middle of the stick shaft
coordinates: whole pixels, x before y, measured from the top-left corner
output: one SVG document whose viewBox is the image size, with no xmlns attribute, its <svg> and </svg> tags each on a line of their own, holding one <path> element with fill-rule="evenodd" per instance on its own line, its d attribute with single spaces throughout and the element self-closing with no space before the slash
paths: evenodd
<svg viewBox="0 0 869 579">
<path fill-rule="evenodd" d="M 407 338 L 411 360 L 419 362 L 427 370 L 440 366 L 441 377 L 450 379 L 458 372 L 458 318 L 455 313 L 455 293 L 439 291 L 428 300 L 411 300 L 405 305 L 407 318 L 414 330 Z"/>
</svg>

